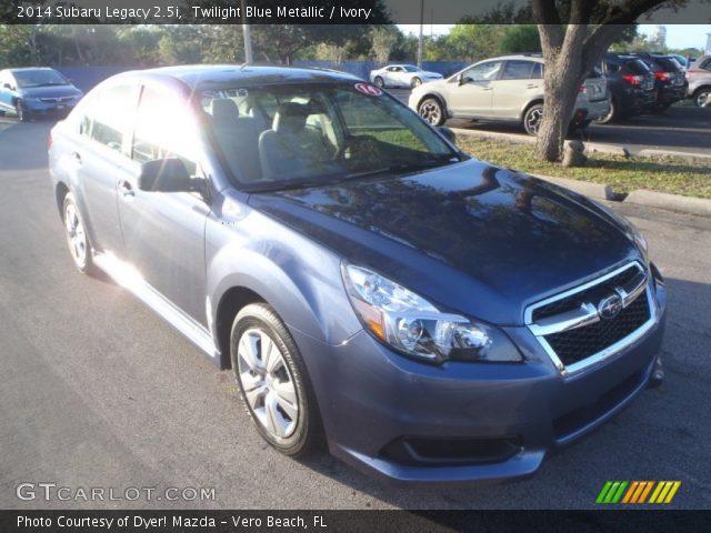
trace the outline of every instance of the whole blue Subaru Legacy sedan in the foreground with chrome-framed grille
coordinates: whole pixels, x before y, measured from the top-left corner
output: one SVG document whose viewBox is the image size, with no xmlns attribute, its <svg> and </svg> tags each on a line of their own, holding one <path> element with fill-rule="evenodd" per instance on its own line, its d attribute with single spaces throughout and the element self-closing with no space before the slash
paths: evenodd
<svg viewBox="0 0 711 533">
<path fill-rule="evenodd" d="M 667 292 L 629 222 L 448 133 L 348 74 L 176 67 L 92 90 L 50 168 L 79 270 L 231 366 L 277 450 L 525 476 L 661 378 Z"/>
</svg>

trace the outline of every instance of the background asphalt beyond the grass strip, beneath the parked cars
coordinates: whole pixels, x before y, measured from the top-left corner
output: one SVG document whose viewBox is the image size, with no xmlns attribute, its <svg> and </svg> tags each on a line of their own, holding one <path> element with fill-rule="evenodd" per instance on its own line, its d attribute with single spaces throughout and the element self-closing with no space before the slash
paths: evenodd
<svg viewBox="0 0 711 533">
<path fill-rule="evenodd" d="M 408 103 L 409 89 L 389 89 L 400 101 Z M 450 120 L 448 125 L 471 130 L 494 131 L 527 137 L 520 124 Z M 668 150 L 681 153 L 711 155 L 711 109 L 673 105 L 661 114 L 642 114 L 612 124 L 591 124 L 575 134 L 584 142 L 628 147 L 640 150 Z"/>
</svg>

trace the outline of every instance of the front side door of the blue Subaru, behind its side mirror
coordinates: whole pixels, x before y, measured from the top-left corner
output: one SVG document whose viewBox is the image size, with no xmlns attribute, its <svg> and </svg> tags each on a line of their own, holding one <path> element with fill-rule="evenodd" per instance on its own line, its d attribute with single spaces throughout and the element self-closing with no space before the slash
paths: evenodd
<svg viewBox="0 0 711 533">
<path fill-rule="evenodd" d="M 199 193 L 142 191 L 141 164 L 179 158 L 201 171 L 198 124 L 186 101 L 162 86 L 144 86 L 131 140 L 134 171 L 118 183 L 123 254 L 164 299 L 202 325 L 206 313 L 204 227 L 210 212 Z"/>
</svg>

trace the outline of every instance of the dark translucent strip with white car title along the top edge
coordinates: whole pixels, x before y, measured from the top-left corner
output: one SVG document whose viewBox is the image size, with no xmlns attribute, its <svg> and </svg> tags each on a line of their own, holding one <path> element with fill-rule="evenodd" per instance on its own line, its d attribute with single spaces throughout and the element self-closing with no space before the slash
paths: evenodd
<svg viewBox="0 0 711 533">
<path fill-rule="evenodd" d="M 629 1 L 629 0 L 628 0 Z M 571 1 L 559 1 L 565 12 Z M 600 9 L 608 3 L 597 2 Z M 612 6 L 612 4 L 610 4 Z M 612 9 L 612 7 L 610 7 Z M 0 0 L 7 24 L 533 23 L 532 0 Z M 709 23 L 709 0 L 678 0 L 639 23 Z"/>
</svg>

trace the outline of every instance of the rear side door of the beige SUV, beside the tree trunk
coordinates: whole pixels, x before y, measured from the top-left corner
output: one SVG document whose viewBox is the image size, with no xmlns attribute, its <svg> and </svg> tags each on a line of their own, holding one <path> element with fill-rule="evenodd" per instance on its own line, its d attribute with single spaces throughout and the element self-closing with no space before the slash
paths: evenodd
<svg viewBox="0 0 711 533">
<path fill-rule="evenodd" d="M 504 62 L 501 77 L 491 84 L 492 115 L 517 120 L 525 104 L 543 94 L 542 64 L 525 59 Z"/>
</svg>

